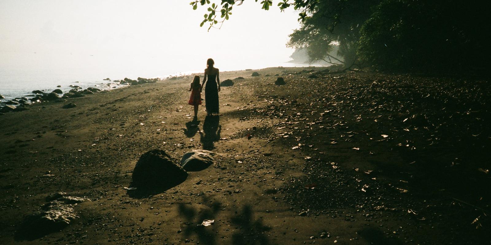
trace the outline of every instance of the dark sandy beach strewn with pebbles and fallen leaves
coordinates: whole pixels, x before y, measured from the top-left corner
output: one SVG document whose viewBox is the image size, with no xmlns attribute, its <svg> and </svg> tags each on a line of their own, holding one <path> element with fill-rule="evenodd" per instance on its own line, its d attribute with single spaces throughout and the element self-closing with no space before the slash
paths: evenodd
<svg viewBox="0 0 491 245">
<path fill-rule="evenodd" d="M 219 120 L 203 106 L 197 125 L 191 76 L 0 116 L 0 244 L 490 243 L 487 81 L 281 74 L 301 70 L 221 73 L 246 79 L 221 88 Z M 219 155 L 164 193 L 130 197 L 153 148 Z M 60 191 L 92 201 L 62 231 L 14 240 Z"/>
</svg>

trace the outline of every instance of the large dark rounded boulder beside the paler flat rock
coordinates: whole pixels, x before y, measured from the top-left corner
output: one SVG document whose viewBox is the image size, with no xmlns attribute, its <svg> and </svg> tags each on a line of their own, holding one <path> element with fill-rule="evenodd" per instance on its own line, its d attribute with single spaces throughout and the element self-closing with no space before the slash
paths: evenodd
<svg viewBox="0 0 491 245">
<path fill-rule="evenodd" d="M 188 177 L 188 173 L 161 149 L 153 149 L 141 155 L 133 170 L 132 186 L 161 189 L 176 186 Z"/>
</svg>

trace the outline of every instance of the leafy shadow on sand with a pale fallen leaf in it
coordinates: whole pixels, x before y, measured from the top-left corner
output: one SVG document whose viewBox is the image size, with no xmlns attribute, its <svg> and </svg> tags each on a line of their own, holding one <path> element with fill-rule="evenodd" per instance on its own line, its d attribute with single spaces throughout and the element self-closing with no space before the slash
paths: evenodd
<svg viewBox="0 0 491 245">
<path fill-rule="evenodd" d="M 202 203 L 209 203 L 206 196 L 203 196 Z M 215 228 L 211 226 L 200 225 L 204 220 L 215 220 L 215 217 L 220 210 L 221 204 L 218 201 L 213 202 L 209 207 L 199 210 L 199 212 L 191 205 L 184 203 L 178 204 L 179 215 L 186 220 L 186 228 L 183 229 L 183 236 L 188 238 L 192 234 L 196 234 L 200 244 L 215 245 Z"/>
</svg>

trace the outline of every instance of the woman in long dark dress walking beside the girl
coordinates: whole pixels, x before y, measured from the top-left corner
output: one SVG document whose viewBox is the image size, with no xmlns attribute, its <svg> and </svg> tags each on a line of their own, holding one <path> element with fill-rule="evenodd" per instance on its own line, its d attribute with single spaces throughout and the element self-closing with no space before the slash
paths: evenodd
<svg viewBox="0 0 491 245">
<path fill-rule="evenodd" d="M 220 78 L 219 71 L 217 68 L 213 67 L 215 61 L 212 58 L 206 61 L 205 78 L 203 79 L 203 84 L 201 84 L 201 90 L 208 79 L 205 87 L 205 106 L 206 113 L 208 116 L 213 113 L 218 114 L 218 91 L 220 91 Z"/>
</svg>

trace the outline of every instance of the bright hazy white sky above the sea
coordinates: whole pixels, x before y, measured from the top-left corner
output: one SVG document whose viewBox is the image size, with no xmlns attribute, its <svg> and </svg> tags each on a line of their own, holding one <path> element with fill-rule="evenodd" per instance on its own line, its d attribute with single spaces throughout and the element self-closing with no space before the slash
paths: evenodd
<svg viewBox="0 0 491 245">
<path fill-rule="evenodd" d="M 190 1 L 1 0 L 0 70 L 150 77 L 201 71 L 209 57 L 222 71 L 289 60 L 293 8 L 246 0 L 208 32 L 199 27 L 206 8 Z"/>
</svg>

